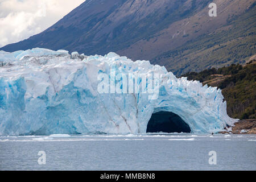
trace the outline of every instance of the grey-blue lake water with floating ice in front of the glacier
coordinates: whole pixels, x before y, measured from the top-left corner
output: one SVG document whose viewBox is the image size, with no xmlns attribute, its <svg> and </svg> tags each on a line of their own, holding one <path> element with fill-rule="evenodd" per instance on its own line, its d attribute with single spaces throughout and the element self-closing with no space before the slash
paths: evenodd
<svg viewBox="0 0 256 182">
<path fill-rule="evenodd" d="M 0 136 L 0 170 L 256 170 L 256 135 Z"/>
</svg>

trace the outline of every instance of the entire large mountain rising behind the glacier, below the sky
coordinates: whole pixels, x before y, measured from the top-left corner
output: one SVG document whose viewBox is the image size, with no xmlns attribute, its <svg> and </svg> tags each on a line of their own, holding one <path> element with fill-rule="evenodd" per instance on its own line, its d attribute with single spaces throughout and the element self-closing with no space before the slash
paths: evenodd
<svg viewBox="0 0 256 182">
<path fill-rule="evenodd" d="M 208 15 L 210 2 L 217 17 Z M 117 52 L 181 75 L 255 55 L 254 0 L 87 0 L 38 35 L 2 47 Z"/>
</svg>

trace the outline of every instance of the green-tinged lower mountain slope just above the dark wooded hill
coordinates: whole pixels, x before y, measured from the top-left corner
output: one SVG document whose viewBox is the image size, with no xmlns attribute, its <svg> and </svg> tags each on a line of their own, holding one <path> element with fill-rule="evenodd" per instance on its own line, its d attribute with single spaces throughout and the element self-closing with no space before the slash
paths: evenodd
<svg viewBox="0 0 256 182">
<path fill-rule="evenodd" d="M 165 64 L 176 75 L 233 63 L 245 64 L 256 53 L 255 12 L 254 4 L 241 16 L 230 16 L 225 26 L 157 56 L 153 63 Z"/>
</svg>

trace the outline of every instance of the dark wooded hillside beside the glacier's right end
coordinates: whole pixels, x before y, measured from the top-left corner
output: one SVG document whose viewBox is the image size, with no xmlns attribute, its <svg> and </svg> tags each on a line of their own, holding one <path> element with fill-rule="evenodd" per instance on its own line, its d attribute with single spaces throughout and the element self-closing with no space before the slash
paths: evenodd
<svg viewBox="0 0 256 182">
<path fill-rule="evenodd" d="M 232 118 L 255 119 L 256 109 L 256 61 L 245 66 L 232 64 L 229 67 L 211 68 L 200 73 L 189 72 L 183 77 L 199 80 L 203 85 L 217 86 L 227 101 L 227 112 Z"/>
</svg>

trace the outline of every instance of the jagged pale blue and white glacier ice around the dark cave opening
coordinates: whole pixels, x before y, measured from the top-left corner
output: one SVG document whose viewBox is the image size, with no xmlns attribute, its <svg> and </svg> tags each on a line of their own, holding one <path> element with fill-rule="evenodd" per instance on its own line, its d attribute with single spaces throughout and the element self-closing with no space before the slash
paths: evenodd
<svg viewBox="0 0 256 182">
<path fill-rule="evenodd" d="M 98 75 L 159 74 L 159 95 L 100 94 Z M 109 53 L 85 56 L 34 48 L 0 51 L 0 134 L 146 133 L 152 113 L 171 111 L 193 133 L 216 133 L 236 119 L 226 114 L 221 90 L 176 78 L 149 61 Z"/>
</svg>

